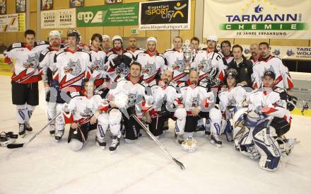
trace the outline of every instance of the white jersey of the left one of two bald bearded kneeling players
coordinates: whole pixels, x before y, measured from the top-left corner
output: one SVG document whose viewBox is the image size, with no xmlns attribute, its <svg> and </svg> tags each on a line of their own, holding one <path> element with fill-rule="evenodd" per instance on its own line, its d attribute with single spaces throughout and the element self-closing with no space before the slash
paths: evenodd
<svg viewBox="0 0 311 194">
<path fill-rule="evenodd" d="M 168 86 L 160 86 L 160 81 L 160 79 L 153 80 L 149 83 L 152 91 L 153 108 L 159 108 L 156 107 L 156 105 L 163 103 L 164 101 L 168 104 L 181 104 L 181 94 L 177 91 L 177 83 L 175 81 L 170 81 Z"/>
</svg>

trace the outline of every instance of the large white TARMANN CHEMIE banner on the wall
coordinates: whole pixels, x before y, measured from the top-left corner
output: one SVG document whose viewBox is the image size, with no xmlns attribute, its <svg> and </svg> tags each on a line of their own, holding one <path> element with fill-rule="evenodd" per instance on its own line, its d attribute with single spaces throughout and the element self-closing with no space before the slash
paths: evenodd
<svg viewBox="0 0 311 194">
<path fill-rule="evenodd" d="M 204 37 L 311 39 L 311 0 L 206 0 Z"/>
</svg>

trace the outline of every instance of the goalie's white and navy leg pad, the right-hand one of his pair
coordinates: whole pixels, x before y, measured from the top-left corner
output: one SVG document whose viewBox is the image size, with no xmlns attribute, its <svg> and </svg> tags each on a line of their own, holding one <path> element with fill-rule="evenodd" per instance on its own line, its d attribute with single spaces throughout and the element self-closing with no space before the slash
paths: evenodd
<svg viewBox="0 0 311 194">
<path fill-rule="evenodd" d="M 269 120 L 259 122 L 252 131 L 254 144 L 260 154 L 259 166 L 268 171 L 274 171 L 281 159 L 280 149 L 276 140 L 269 132 Z"/>
</svg>

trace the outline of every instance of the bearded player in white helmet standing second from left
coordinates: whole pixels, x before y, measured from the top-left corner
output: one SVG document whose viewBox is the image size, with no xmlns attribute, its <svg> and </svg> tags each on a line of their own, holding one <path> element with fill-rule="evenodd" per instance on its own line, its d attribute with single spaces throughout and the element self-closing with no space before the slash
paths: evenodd
<svg viewBox="0 0 311 194">
<path fill-rule="evenodd" d="M 47 101 L 47 119 L 52 120 L 56 115 L 56 96 L 51 97 L 51 92 L 49 90 L 52 81 L 52 72 L 54 69 L 54 56 L 57 53 L 61 52 L 61 49 L 64 45 L 61 45 L 61 33 L 57 30 L 52 30 L 49 32 L 49 47 L 43 50 L 40 54 L 40 69 L 42 71 L 42 80 L 45 83 L 45 91 L 46 91 L 46 101 Z M 50 101 L 51 99 L 51 101 Z M 50 122 L 49 125 L 49 134 L 54 136 L 55 134 L 55 120 Z"/>
</svg>

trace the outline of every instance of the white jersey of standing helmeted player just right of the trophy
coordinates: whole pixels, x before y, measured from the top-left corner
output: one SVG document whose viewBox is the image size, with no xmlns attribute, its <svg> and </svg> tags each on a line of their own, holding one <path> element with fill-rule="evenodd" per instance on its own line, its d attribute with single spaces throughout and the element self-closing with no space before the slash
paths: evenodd
<svg viewBox="0 0 311 194">
<path fill-rule="evenodd" d="M 206 49 L 199 50 L 191 64 L 192 69 L 199 72 L 199 80 L 218 79 L 218 82 L 225 79 L 224 69 L 221 55 L 217 52 L 208 52 Z"/>
</svg>

